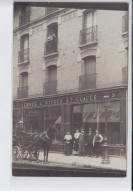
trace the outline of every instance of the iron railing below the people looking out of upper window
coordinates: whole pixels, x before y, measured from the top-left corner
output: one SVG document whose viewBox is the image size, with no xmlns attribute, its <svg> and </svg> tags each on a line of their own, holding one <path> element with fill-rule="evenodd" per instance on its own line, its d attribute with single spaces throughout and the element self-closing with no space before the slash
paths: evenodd
<svg viewBox="0 0 133 194">
<path fill-rule="evenodd" d="M 45 42 L 44 43 L 44 55 L 49 55 L 49 54 L 58 52 L 57 45 L 58 45 L 57 39 Z"/>
</svg>

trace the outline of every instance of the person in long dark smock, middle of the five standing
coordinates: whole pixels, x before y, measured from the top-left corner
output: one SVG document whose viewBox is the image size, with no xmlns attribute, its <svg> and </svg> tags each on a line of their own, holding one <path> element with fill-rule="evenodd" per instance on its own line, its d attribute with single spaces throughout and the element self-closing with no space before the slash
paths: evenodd
<svg viewBox="0 0 133 194">
<path fill-rule="evenodd" d="M 83 156 L 85 154 L 85 131 L 81 129 L 81 134 L 79 136 L 79 155 Z"/>
</svg>

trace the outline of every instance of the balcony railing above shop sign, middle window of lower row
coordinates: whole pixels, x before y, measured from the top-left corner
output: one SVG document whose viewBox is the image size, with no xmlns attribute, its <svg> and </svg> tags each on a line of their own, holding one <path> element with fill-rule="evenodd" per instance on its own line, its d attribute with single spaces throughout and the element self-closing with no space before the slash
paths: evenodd
<svg viewBox="0 0 133 194">
<path fill-rule="evenodd" d="M 57 80 L 51 82 L 45 82 L 43 86 L 44 95 L 57 93 Z"/>
</svg>

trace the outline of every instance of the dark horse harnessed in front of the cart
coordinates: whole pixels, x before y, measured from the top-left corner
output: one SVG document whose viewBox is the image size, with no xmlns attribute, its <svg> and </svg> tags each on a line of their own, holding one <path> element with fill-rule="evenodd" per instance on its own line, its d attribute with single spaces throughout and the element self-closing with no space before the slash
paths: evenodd
<svg viewBox="0 0 133 194">
<path fill-rule="evenodd" d="M 48 163 L 48 153 L 50 146 L 53 141 L 53 136 L 56 132 L 55 125 L 48 127 L 48 129 L 39 134 L 35 134 L 33 137 L 33 147 L 35 148 L 35 153 L 37 153 L 40 149 L 44 151 L 44 163 Z"/>
</svg>

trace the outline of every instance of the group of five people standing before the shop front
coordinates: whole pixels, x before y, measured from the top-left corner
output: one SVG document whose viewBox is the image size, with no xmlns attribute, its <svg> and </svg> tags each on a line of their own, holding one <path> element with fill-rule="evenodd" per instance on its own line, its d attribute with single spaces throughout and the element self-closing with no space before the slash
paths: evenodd
<svg viewBox="0 0 133 194">
<path fill-rule="evenodd" d="M 89 157 L 99 157 L 101 155 L 101 144 L 103 142 L 103 136 L 96 130 L 92 132 L 92 128 L 89 128 L 89 132 L 85 133 L 84 129 L 76 130 L 74 136 L 67 132 L 64 137 L 65 141 L 65 155 L 74 155 Z"/>
</svg>

